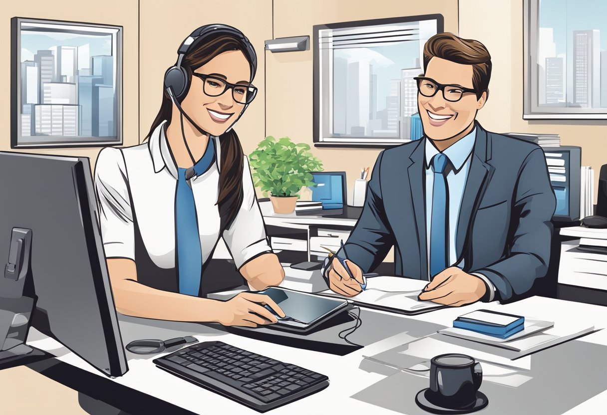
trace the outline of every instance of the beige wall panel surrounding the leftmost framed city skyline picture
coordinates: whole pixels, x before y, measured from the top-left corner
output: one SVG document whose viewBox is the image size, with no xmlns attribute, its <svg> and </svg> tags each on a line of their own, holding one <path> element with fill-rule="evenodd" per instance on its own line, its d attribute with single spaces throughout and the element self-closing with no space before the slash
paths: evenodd
<svg viewBox="0 0 607 415">
<path fill-rule="evenodd" d="M 10 149 L 10 18 L 55 19 L 78 22 L 91 22 L 123 26 L 123 143 L 131 146 L 138 143 L 138 59 L 137 59 L 137 0 L 104 0 L 87 2 L 83 7 L 81 0 L 44 0 L 5 1 L 0 8 L 0 19 L 4 30 L 0 32 L 0 53 L 4 64 L 0 65 L 0 79 L 4 79 L 4 100 L 0 103 L 0 124 L 5 130 L 0 138 L 0 150 Z M 100 147 L 74 149 L 24 149 L 38 154 L 70 155 L 89 157 L 93 166 Z"/>
</svg>

